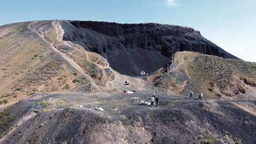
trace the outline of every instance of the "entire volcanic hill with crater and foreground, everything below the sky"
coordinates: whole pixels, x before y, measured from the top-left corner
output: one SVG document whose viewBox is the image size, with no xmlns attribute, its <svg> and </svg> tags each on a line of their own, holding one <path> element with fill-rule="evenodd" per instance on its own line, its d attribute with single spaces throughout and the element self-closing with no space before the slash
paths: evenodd
<svg viewBox="0 0 256 144">
<path fill-rule="evenodd" d="M 142 70 L 152 73 L 137 77 Z M 139 105 L 153 90 L 160 107 Z M 203 99 L 188 99 L 190 90 Z M 0 144 L 254 144 L 255 111 L 256 63 L 192 28 L 0 26 Z"/>
</svg>

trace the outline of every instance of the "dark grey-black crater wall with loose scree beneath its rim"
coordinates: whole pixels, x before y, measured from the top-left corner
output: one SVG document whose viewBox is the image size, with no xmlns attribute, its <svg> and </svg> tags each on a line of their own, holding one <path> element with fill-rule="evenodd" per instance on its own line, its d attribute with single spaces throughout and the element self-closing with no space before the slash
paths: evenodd
<svg viewBox="0 0 256 144">
<path fill-rule="evenodd" d="M 170 63 L 177 51 L 195 51 L 223 58 L 237 58 L 189 27 L 155 23 L 118 24 L 97 21 L 61 21 L 64 40 L 101 54 L 110 66 L 137 76 Z"/>
</svg>

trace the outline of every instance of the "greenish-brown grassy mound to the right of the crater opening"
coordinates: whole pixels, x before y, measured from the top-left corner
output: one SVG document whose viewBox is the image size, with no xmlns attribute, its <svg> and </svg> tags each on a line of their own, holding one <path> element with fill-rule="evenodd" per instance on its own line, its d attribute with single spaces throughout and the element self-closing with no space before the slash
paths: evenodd
<svg viewBox="0 0 256 144">
<path fill-rule="evenodd" d="M 256 99 L 256 63 L 223 59 L 194 52 L 177 52 L 164 73 L 156 75 L 159 90 L 176 95 L 189 91 L 205 96 Z M 227 97 L 224 97 L 227 98 Z"/>
</svg>

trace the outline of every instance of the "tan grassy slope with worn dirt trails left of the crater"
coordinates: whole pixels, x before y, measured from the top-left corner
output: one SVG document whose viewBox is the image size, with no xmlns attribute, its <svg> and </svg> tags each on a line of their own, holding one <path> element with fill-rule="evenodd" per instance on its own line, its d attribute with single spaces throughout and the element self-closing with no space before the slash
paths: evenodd
<svg viewBox="0 0 256 144">
<path fill-rule="evenodd" d="M 113 71 L 101 55 L 63 41 L 59 21 L 0 27 L 0 108 L 38 92 L 140 89 L 140 79 Z M 142 88 L 141 88 L 142 90 Z"/>
</svg>

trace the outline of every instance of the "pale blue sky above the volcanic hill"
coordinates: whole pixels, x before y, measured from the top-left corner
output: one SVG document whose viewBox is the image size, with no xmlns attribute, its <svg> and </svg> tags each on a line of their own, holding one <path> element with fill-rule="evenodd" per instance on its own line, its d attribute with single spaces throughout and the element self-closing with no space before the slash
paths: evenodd
<svg viewBox="0 0 256 144">
<path fill-rule="evenodd" d="M 4 0 L 0 25 L 44 19 L 155 22 L 192 27 L 256 62 L 256 0 Z"/>
</svg>

